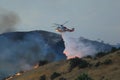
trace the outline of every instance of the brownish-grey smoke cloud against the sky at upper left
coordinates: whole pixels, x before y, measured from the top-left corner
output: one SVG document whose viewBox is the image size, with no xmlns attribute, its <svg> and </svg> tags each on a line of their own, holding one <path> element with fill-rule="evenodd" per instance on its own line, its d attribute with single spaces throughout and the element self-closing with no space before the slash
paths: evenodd
<svg viewBox="0 0 120 80">
<path fill-rule="evenodd" d="M 20 18 L 16 13 L 0 8 L 0 34 L 14 31 L 19 21 Z"/>
</svg>

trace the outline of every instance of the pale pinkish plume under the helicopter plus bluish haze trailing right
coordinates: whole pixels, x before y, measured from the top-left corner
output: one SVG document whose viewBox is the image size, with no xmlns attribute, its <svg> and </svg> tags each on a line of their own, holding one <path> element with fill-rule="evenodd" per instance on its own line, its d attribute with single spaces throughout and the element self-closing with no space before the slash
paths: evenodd
<svg viewBox="0 0 120 80">
<path fill-rule="evenodd" d="M 83 37 L 74 38 L 71 34 L 70 32 L 62 33 L 65 42 L 64 53 L 68 59 L 73 57 L 82 58 L 88 55 L 95 56 L 98 52 L 107 52 L 112 48 L 109 44 L 88 40 Z"/>
</svg>

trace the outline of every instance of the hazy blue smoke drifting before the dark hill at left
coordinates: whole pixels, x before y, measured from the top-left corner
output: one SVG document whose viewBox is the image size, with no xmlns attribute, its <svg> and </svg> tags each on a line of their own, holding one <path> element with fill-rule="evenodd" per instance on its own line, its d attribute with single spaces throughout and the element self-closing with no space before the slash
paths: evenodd
<svg viewBox="0 0 120 80">
<path fill-rule="evenodd" d="M 3 69 L 8 69 L 7 72 L 9 72 L 11 68 L 8 68 L 8 66 L 12 66 L 14 71 L 29 70 L 39 62 L 39 60 L 53 61 L 55 59 L 55 54 L 51 59 L 49 59 L 48 56 L 50 53 L 52 55 L 52 49 L 44 40 L 40 39 L 40 37 L 35 38 L 37 36 L 24 36 L 25 38 L 23 41 L 2 38 L 2 46 L 0 47 L 0 64 L 2 64 Z"/>
</svg>

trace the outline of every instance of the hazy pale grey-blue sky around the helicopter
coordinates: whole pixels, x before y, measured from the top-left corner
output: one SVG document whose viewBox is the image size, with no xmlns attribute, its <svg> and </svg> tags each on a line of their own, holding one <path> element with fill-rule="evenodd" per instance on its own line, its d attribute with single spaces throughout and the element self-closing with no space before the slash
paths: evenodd
<svg viewBox="0 0 120 80">
<path fill-rule="evenodd" d="M 120 43 L 120 0 L 0 0 L 20 17 L 17 30 L 54 32 L 53 23 L 75 27 L 74 36 Z"/>
</svg>

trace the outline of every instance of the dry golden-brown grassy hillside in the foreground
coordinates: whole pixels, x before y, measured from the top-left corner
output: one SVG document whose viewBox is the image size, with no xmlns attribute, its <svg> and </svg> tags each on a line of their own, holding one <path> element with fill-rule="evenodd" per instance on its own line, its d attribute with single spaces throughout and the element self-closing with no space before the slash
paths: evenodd
<svg viewBox="0 0 120 80">
<path fill-rule="evenodd" d="M 93 80 L 120 79 L 120 50 L 103 57 L 83 58 L 83 60 L 86 60 L 91 65 L 85 68 L 76 66 L 69 71 L 70 60 L 64 60 L 40 66 L 20 75 L 14 75 L 12 76 L 13 78 L 6 80 L 42 80 L 40 77 L 43 75 L 46 77 L 46 80 L 50 80 L 50 76 L 54 72 L 60 73 L 54 80 L 75 80 L 81 73 L 88 73 Z"/>
</svg>

